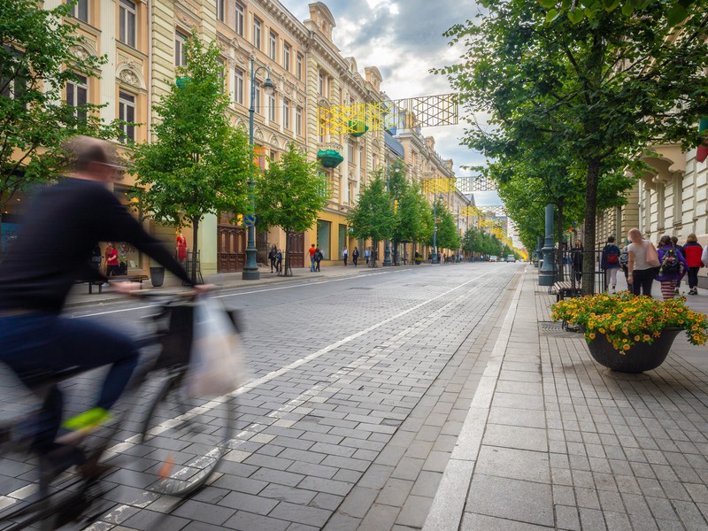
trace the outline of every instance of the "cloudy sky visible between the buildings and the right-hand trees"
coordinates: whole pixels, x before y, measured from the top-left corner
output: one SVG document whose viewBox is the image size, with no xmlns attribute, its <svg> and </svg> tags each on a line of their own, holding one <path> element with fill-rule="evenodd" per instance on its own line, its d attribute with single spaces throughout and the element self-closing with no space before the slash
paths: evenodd
<svg viewBox="0 0 708 531">
<path fill-rule="evenodd" d="M 462 50 L 450 47 L 443 33 L 454 24 L 474 19 L 478 8 L 473 0 L 324 0 L 323 3 L 335 18 L 333 41 L 342 57 L 355 58 L 362 75 L 366 66 L 376 66 L 383 77 L 381 90 L 391 99 L 452 92 L 445 76 L 429 70 L 458 61 Z M 310 18 L 310 2 L 281 0 L 281 4 L 301 21 Z M 421 133 L 435 137 L 435 150 L 443 159 L 451 158 L 455 174 L 464 177 L 473 172 L 460 166 L 483 165 L 484 157 L 459 145 L 466 128 L 464 117 L 459 118 L 457 126 L 424 127 Z"/>
</svg>

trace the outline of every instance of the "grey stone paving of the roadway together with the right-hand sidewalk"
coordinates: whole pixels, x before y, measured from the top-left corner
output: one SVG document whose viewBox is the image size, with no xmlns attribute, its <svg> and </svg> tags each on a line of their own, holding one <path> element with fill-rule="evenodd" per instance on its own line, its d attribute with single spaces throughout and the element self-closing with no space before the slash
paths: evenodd
<svg viewBox="0 0 708 531">
<path fill-rule="evenodd" d="M 219 282 L 246 312 L 234 449 L 183 504 L 117 485 L 90 529 L 708 528 L 704 347 L 679 336 L 656 371 L 620 376 L 548 324 L 530 266 L 352 269 Z M 145 312 L 81 297 L 77 318 Z"/>
</svg>

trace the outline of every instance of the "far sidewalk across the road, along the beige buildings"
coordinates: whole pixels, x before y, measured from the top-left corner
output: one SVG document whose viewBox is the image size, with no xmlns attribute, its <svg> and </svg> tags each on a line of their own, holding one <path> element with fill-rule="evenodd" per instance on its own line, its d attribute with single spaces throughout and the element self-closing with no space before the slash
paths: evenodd
<svg viewBox="0 0 708 531">
<path fill-rule="evenodd" d="M 430 266 L 430 264 L 421 264 L 419 266 Z M 407 266 L 397 266 L 396 269 L 400 269 L 401 267 Z M 368 267 L 366 266 L 366 263 L 359 264 L 356 267 L 322 266 L 319 273 L 311 273 L 309 267 L 293 267 L 293 276 L 285 277 L 279 276 L 277 273 L 271 273 L 270 267 L 260 266 L 258 268 L 258 273 L 260 273 L 260 279 L 258 279 L 258 281 L 244 281 L 242 279 L 242 273 L 238 272 L 206 274 L 204 275 L 204 283 L 216 284 L 221 288 L 243 288 L 248 286 L 264 286 L 274 282 L 284 281 L 317 281 L 322 277 L 332 278 L 338 276 L 353 276 L 355 274 L 375 273 L 388 271 L 390 269 L 392 268 L 381 266 L 381 262 L 378 263 L 376 267 Z M 115 278 L 116 280 L 119 280 L 120 277 Z M 165 289 L 181 289 L 181 285 L 180 279 L 176 278 L 171 273 L 165 273 L 165 283 L 163 286 L 160 288 L 153 288 L 150 281 L 143 281 L 142 290 L 163 291 Z M 69 294 L 65 307 L 80 308 L 82 306 L 116 302 L 120 299 L 125 300 L 126 296 L 112 291 L 110 287 L 104 288 L 103 293 L 98 293 L 98 287 L 94 286 L 93 293 L 89 293 L 88 284 L 76 284 Z"/>
</svg>

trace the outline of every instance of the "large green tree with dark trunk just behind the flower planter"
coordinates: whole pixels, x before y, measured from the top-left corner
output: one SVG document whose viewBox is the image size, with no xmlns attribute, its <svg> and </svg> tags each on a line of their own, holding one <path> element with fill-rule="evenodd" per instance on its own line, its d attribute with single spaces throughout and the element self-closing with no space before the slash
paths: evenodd
<svg viewBox="0 0 708 531">
<path fill-rule="evenodd" d="M 638 154 L 654 143 L 700 141 L 696 121 L 708 114 L 708 13 L 689 10 L 676 29 L 670 5 L 651 2 L 631 17 L 598 11 L 572 23 L 551 17 L 535 0 L 487 0 L 481 21 L 452 27 L 463 41 L 458 65 L 444 68 L 461 102 L 489 112 L 507 145 L 535 146 L 547 134 L 573 154 L 585 189 L 584 242 L 595 247 L 598 187 L 605 173 L 639 169 Z M 468 145 L 484 151 L 489 130 L 472 128 Z M 593 271 L 586 253 L 584 271 Z M 583 278 L 584 293 L 594 275 Z"/>
</svg>

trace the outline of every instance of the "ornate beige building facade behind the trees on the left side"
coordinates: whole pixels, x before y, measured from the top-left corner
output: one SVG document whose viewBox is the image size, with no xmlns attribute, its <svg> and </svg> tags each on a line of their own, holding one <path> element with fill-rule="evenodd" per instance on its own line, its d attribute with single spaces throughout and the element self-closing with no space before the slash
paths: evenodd
<svg viewBox="0 0 708 531">
<path fill-rule="evenodd" d="M 47 8 L 60 0 L 48 0 Z M 100 75 L 80 78 L 65 88 L 68 102 L 105 104 L 101 117 L 125 119 L 141 125 L 125 127 L 126 138 L 150 142 L 150 127 L 158 119 L 152 106 L 176 82 L 176 67 L 184 63 L 184 45 L 193 28 L 206 41 L 216 40 L 222 50 L 224 83 L 231 101 L 235 127 L 249 127 L 251 70 L 254 85 L 254 145 L 258 163 L 277 160 L 289 142 L 319 159 L 327 175 L 329 201 L 311 230 L 291 238 L 298 258 L 306 262 L 307 249 L 319 245 L 326 260 L 339 260 L 346 246 L 359 252 L 370 242 L 350 238 L 346 215 L 356 204 L 362 187 L 376 169 L 386 168 L 384 131 L 372 127 L 362 134 L 331 133 L 323 127 L 319 109 L 381 102 L 381 73 L 375 66 L 359 69 L 356 58 L 343 57 L 333 42 L 336 24 L 326 4 L 310 4 L 310 18 L 296 19 L 278 0 L 79 0 L 71 22 L 86 42 L 81 51 L 108 58 Z M 270 77 L 273 95 L 266 96 L 261 83 Z M 404 130 L 398 139 L 405 146 L 405 162 L 412 178 L 451 178 L 452 161 L 435 152 L 435 140 L 419 130 Z M 334 151 L 338 164 L 323 154 Z M 336 161 L 335 161 L 336 163 Z M 127 189 L 135 180 L 125 175 L 115 192 L 127 203 Z M 432 200 L 433 194 L 428 194 Z M 450 212 L 464 210 L 465 199 L 454 187 L 443 200 Z M 238 212 L 208 215 L 200 224 L 202 273 L 240 271 L 245 262 L 246 232 L 228 223 Z M 258 212 L 257 212 L 258 214 Z M 458 227 L 467 227 L 458 216 Z M 148 221 L 146 227 L 168 245 L 174 245 L 173 227 Z M 191 246 L 191 231 L 183 231 Z M 258 262 L 265 262 L 271 245 L 285 248 L 281 229 L 257 231 Z M 382 246 L 380 257 L 382 258 Z M 123 246 L 130 273 L 144 273 L 148 258 Z"/>
</svg>

